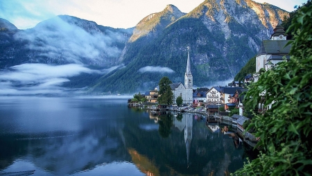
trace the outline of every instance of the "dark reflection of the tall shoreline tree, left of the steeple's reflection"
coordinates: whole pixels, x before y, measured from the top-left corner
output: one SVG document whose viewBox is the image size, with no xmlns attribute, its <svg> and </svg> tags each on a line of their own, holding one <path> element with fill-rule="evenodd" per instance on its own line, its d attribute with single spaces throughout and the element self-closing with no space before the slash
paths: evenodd
<svg viewBox="0 0 312 176">
<path fill-rule="evenodd" d="M 173 126 L 173 115 L 171 113 L 160 115 L 158 123 L 158 132 L 161 137 L 167 138 L 171 134 L 171 127 Z"/>
</svg>

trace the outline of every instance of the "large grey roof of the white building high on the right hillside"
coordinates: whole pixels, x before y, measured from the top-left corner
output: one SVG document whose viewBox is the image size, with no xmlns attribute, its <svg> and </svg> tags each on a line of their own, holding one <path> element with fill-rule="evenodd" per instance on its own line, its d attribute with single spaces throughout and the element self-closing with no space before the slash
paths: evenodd
<svg viewBox="0 0 312 176">
<path fill-rule="evenodd" d="M 263 40 L 258 55 L 288 55 L 291 51 L 291 44 L 286 44 L 291 40 Z"/>
</svg>

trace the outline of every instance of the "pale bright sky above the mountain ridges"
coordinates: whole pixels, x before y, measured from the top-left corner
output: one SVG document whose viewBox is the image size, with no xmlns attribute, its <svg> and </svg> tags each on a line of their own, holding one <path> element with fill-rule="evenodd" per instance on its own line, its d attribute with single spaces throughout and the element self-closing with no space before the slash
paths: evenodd
<svg viewBox="0 0 312 176">
<path fill-rule="evenodd" d="M 141 19 L 173 4 L 182 12 L 190 12 L 204 0 L 0 0 L 0 18 L 19 29 L 33 28 L 40 21 L 57 15 L 71 15 L 99 25 L 131 28 Z M 234 1 L 234 0 L 233 0 Z M 255 0 L 267 2 L 288 12 L 307 0 Z"/>
</svg>

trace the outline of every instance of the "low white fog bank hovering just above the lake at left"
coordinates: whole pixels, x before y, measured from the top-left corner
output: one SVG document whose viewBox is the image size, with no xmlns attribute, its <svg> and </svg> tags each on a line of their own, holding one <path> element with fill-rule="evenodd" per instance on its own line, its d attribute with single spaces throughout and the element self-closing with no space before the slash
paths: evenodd
<svg viewBox="0 0 312 176">
<path fill-rule="evenodd" d="M 107 71 L 105 71 L 107 72 Z M 48 65 L 48 64 L 21 64 L 10 67 L 10 70 L 1 71 L 0 95 L 35 95 L 35 94 L 67 94 L 69 91 L 62 87 L 72 76 L 80 73 L 97 73 L 103 71 L 92 70 L 80 64 Z"/>
</svg>

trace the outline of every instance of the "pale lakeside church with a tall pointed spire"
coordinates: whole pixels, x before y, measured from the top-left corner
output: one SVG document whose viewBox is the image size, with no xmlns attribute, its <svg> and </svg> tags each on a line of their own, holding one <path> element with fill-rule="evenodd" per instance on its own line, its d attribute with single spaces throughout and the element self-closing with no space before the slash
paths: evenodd
<svg viewBox="0 0 312 176">
<path fill-rule="evenodd" d="M 181 96 L 183 104 L 193 103 L 193 76 L 191 73 L 191 62 L 189 60 L 189 47 L 187 51 L 187 71 L 184 75 L 184 85 L 181 82 L 171 84 L 171 90 L 173 92 L 174 103 L 176 103 L 177 97 Z"/>
</svg>

